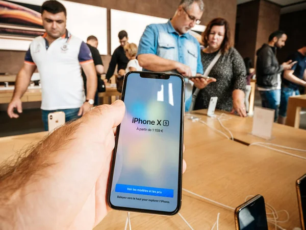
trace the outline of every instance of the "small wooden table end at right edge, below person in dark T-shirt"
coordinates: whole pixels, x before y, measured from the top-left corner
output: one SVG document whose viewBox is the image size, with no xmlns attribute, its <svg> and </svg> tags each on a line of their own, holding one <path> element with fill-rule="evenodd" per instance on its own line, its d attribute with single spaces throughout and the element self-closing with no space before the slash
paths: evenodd
<svg viewBox="0 0 306 230">
<path fill-rule="evenodd" d="M 306 108 L 306 95 L 292 96 L 289 98 L 286 125 L 299 128 L 301 108 Z"/>
</svg>

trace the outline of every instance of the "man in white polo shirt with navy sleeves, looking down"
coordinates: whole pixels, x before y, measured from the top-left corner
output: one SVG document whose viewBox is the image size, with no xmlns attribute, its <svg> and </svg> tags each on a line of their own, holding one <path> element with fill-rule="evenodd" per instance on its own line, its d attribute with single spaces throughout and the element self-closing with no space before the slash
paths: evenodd
<svg viewBox="0 0 306 230">
<path fill-rule="evenodd" d="M 42 121 L 45 130 L 48 130 L 48 113 L 64 111 L 67 122 L 79 118 L 91 108 L 97 78 L 88 46 L 66 30 L 65 7 L 57 1 L 46 1 L 41 7 L 41 14 L 46 33 L 36 37 L 25 54 L 7 112 L 10 118 L 19 117 L 14 108 L 18 113 L 22 112 L 20 98 L 37 68 L 42 87 Z M 87 77 L 87 98 L 81 66 Z"/>
</svg>

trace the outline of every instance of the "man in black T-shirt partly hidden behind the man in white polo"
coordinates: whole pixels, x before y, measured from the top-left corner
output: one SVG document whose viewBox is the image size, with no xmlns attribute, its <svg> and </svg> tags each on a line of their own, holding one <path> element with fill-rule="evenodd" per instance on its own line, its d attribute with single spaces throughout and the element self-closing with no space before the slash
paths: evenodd
<svg viewBox="0 0 306 230">
<path fill-rule="evenodd" d="M 104 82 L 101 80 L 101 74 L 104 73 L 104 66 L 103 66 L 103 62 L 102 62 L 100 53 L 97 50 L 98 39 L 95 36 L 91 35 L 87 38 L 86 44 L 88 45 L 89 50 L 91 52 L 93 63 L 95 65 L 95 70 L 97 72 L 98 87 L 99 87 L 99 84 L 103 84 L 103 86 L 105 87 Z M 83 76 L 84 89 L 85 89 L 85 95 L 86 95 L 86 75 L 83 72 L 83 70 L 82 70 L 82 76 Z M 97 90 L 95 97 L 94 97 L 94 105 L 98 105 L 98 101 L 99 101 L 99 97 L 98 97 L 98 90 Z"/>
</svg>

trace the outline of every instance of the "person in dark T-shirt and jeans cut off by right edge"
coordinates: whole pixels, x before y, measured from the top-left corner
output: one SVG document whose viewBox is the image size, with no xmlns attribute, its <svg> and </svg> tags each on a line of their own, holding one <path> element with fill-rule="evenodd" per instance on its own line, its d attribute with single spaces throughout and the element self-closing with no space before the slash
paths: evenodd
<svg viewBox="0 0 306 230">
<path fill-rule="evenodd" d="M 288 60 L 296 62 L 291 70 L 284 71 L 282 79 L 281 105 L 278 123 L 285 124 L 289 97 L 299 95 L 299 86 L 306 87 L 306 45 L 295 51 Z"/>
</svg>

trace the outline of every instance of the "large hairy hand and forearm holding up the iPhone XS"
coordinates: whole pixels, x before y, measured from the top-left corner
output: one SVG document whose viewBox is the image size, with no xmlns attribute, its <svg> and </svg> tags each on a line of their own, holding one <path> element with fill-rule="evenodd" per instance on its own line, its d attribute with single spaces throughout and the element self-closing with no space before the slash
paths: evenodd
<svg viewBox="0 0 306 230">
<path fill-rule="evenodd" d="M 119 100 L 112 105 L 94 107 L 82 118 L 56 129 L 23 164 L 16 166 L 19 168 L 14 171 L 13 180 L 8 179 L 13 185 L 20 173 L 22 188 L 18 187 L 9 201 L 9 214 L 14 212 L 14 218 L 5 212 L 7 205 L 0 205 L 0 214 L 6 213 L 8 217 L 5 221 L 14 220 L 6 226 L 16 229 L 95 227 L 110 210 L 106 192 L 115 145 L 114 130 L 124 112 L 124 103 Z"/>
</svg>

